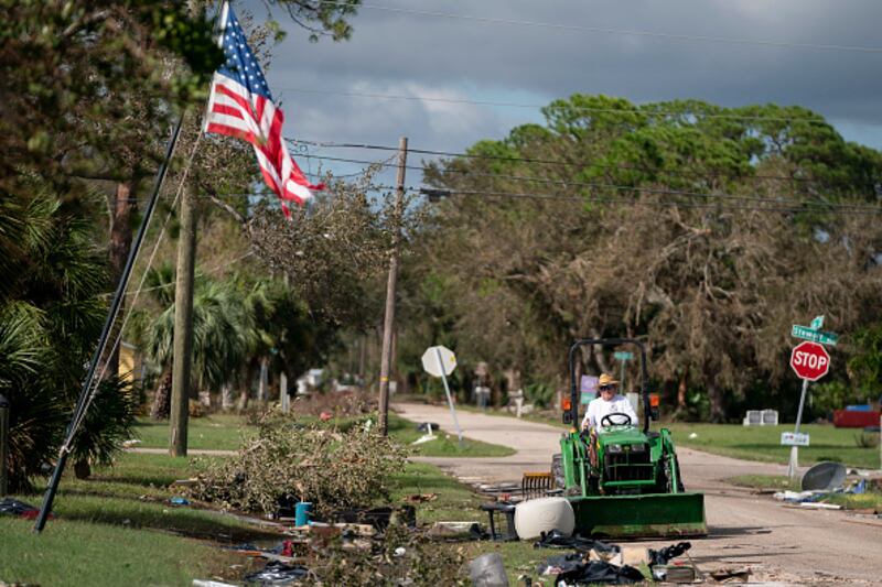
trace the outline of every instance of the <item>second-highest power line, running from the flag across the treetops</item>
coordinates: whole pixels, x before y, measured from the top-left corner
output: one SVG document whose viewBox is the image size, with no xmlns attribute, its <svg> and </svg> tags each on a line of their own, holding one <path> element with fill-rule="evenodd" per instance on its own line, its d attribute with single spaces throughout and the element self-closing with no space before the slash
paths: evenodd
<svg viewBox="0 0 882 587">
<path fill-rule="evenodd" d="M 470 100 L 465 98 L 440 98 L 440 97 L 424 97 L 424 96 L 408 96 L 404 94 L 376 94 L 376 93 L 366 93 L 366 91 L 336 91 L 336 90 L 325 90 L 325 89 L 314 89 L 314 88 L 293 88 L 293 87 L 280 87 L 279 89 L 288 90 L 288 91 L 295 91 L 299 94 L 321 94 L 327 96 L 344 96 L 351 98 L 372 98 L 372 99 L 384 99 L 384 100 L 407 100 L 407 101 L 418 101 L 418 102 L 439 102 L 439 104 L 463 104 L 463 105 L 471 105 L 471 106 L 495 106 L 499 108 L 528 108 L 528 109 L 567 109 L 573 110 L 577 112 L 598 112 L 598 113 L 606 113 L 606 115 L 643 115 L 643 116 L 656 116 L 656 117 L 682 117 L 682 116 L 693 116 L 696 118 L 709 118 L 709 119 L 721 119 L 721 120 L 752 120 L 752 121 L 770 121 L 770 122 L 806 122 L 808 124 L 828 124 L 826 120 L 820 118 L 808 118 L 808 117 L 773 117 L 773 116 L 756 116 L 756 115 L 723 115 L 723 113 L 712 113 L 712 112 L 677 112 L 675 110 L 648 110 L 648 109 L 641 109 L 641 108 L 593 108 L 590 106 L 572 106 L 572 105 L 560 105 L 556 106 L 553 104 L 523 104 L 523 102 L 497 102 L 491 100 Z M 862 122 L 863 126 L 868 127 L 878 127 L 881 126 L 882 122 Z"/>
</svg>

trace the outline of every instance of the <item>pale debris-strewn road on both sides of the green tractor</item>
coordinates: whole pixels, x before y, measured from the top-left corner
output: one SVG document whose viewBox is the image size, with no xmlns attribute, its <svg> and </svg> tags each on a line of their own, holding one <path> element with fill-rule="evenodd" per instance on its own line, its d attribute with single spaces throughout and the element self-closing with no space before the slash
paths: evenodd
<svg viewBox="0 0 882 587">
<path fill-rule="evenodd" d="M 398 404 L 415 422 L 434 422 L 453 434 L 447 406 Z M 520 481 L 524 471 L 548 470 L 560 428 L 513 417 L 458 412 L 463 434 L 515 448 L 498 458 L 418 457 L 465 481 Z M 676 438 L 675 438 L 676 442 Z M 845 511 L 803 510 L 729 485 L 735 475 L 784 475 L 786 467 L 678 449 L 684 481 L 704 493 L 709 535 L 690 554 L 704 570 L 747 566 L 751 581 L 776 585 L 882 585 L 882 522 Z M 671 541 L 662 541 L 668 544 Z M 638 543 L 644 544 L 644 543 Z M 659 542 L 645 543 L 659 547 Z"/>
</svg>

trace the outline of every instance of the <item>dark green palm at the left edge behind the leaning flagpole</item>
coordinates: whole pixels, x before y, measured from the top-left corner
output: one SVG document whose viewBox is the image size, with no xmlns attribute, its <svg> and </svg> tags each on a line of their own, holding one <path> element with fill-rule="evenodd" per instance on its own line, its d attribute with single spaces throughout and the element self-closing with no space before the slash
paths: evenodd
<svg viewBox="0 0 882 587">
<path fill-rule="evenodd" d="M 106 315 L 107 262 L 93 219 L 33 177 L 0 194 L 0 394 L 10 410 L 11 489 L 29 489 L 57 453 Z M 100 388 L 75 461 L 107 461 L 133 418 L 118 381 Z"/>
</svg>

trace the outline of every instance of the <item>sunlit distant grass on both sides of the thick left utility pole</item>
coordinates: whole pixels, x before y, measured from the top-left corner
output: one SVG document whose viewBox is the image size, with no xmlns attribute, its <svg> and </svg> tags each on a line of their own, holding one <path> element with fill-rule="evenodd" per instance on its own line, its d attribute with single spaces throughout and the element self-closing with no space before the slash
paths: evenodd
<svg viewBox="0 0 882 587">
<path fill-rule="evenodd" d="M 248 426 L 244 417 L 235 414 L 191 417 L 187 425 L 187 447 L 197 450 L 236 450 L 243 435 L 254 431 L 255 427 Z M 141 441 L 137 445 L 139 447 L 168 448 L 169 422 L 140 417 L 135 425 L 135 437 Z"/>
</svg>

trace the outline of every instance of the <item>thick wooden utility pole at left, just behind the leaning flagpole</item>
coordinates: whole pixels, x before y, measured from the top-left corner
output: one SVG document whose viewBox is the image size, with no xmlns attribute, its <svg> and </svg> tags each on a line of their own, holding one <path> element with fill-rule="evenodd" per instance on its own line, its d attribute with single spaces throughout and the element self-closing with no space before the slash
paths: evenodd
<svg viewBox="0 0 882 587">
<path fill-rule="evenodd" d="M 196 186 L 184 189 L 181 199 L 181 232 L 178 239 L 178 275 L 174 286 L 174 346 L 172 349 L 172 413 L 169 454 L 186 456 L 190 416 L 190 383 L 193 365 L 193 273 L 196 267 Z"/>
</svg>

